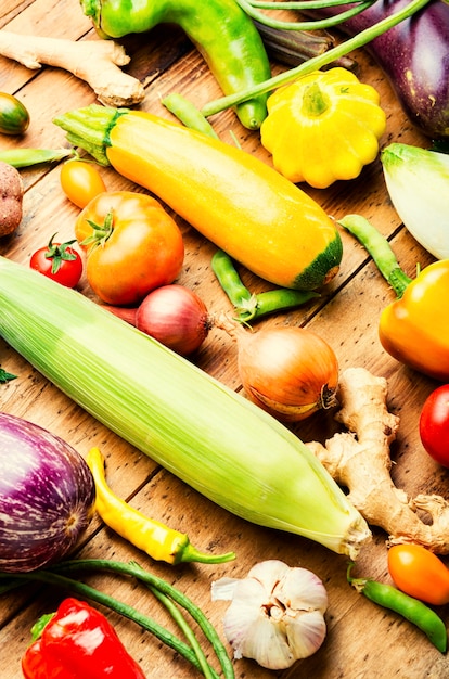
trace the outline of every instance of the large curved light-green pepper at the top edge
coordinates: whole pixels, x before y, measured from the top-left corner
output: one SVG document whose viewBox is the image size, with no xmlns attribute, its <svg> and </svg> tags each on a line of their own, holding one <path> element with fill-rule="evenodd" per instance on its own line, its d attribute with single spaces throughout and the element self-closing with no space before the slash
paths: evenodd
<svg viewBox="0 0 449 679">
<path fill-rule="evenodd" d="M 179 25 L 204 56 L 224 94 L 271 75 L 261 37 L 235 0 L 80 0 L 103 38 L 145 33 L 161 23 Z M 242 124 L 258 129 L 267 116 L 266 93 L 236 107 Z"/>
</svg>

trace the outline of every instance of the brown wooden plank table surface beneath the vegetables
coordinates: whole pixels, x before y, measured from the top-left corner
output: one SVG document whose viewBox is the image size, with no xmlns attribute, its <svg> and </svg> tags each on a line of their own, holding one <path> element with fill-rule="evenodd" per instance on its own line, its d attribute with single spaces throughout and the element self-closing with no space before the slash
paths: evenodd
<svg viewBox="0 0 449 679">
<path fill-rule="evenodd" d="M 77 0 L 2 0 L 0 27 L 73 40 L 98 39 Z M 146 89 L 142 110 L 170 118 L 161 104 L 161 99 L 170 92 L 180 92 L 198 106 L 220 95 L 202 57 L 176 27 L 158 26 L 151 34 L 139 40 L 125 41 L 125 44 L 132 56 L 128 71 Z M 359 51 L 354 56 L 359 63 L 360 79 L 379 89 L 387 113 L 387 129 L 382 145 L 393 141 L 428 145 L 427 140 L 406 119 L 380 69 L 364 52 Z M 273 64 L 273 68 L 279 71 L 284 67 Z M 52 124 L 53 116 L 95 101 L 88 85 L 64 71 L 44 67 L 33 72 L 3 57 L 0 59 L 0 91 L 16 94 L 31 116 L 25 136 L 20 139 L 0 138 L 2 150 L 17 144 L 53 149 L 67 145 L 62 130 Z M 259 134 L 244 129 L 232 112 L 217 115 L 211 121 L 223 141 L 234 143 L 233 132 L 243 149 L 270 164 L 269 154 L 259 143 Z M 110 190 L 142 191 L 111 168 L 102 172 Z M 38 166 L 21 170 L 21 174 L 26 189 L 23 221 L 13 236 L 0 242 L 0 253 L 27 266 L 34 249 L 46 244 L 55 231 L 66 240 L 73 238 L 78 209 L 61 191 L 60 166 Z M 424 267 L 432 261 L 393 209 L 379 159 L 365 167 L 357 180 L 337 182 L 322 191 L 306 190 L 335 218 L 360 213 L 371 219 L 392 239 L 398 259 L 409 276 L 414 276 L 416 262 Z M 177 221 L 187 246 L 179 282 L 194 289 L 211 312 L 230 310 L 210 269 L 215 247 L 180 218 L 177 217 Z M 398 438 L 392 449 L 396 485 L 411 497 L 419 492 L 448 496 L 448 472 L 426 456 L 418 431 L 420 409 L 437 383 L 399 364 L 382 349 L 377 340 L 377 320 L 381 309 L 393 300 L 393 292 L 363 248 L 347 233 L 342 233 L 342 239 L 344 257 L 341 271 L 323 291 L 322 297 L 294 312 L 270 318 L 265 323 L 310 328 L 332 345 L 342 370 L 361 366 L 386 377 L 389 408 L 400 415 Z M 267 283 L 247 271 L 242 270 L 241 273 L 255 292 L 269 289 Z M 86 281 L 80 289 L 90 294 Z M 232 388 L 241 389 L 235 346 L 223 332 L 213 331 L 192 360 Z M 235 550 L 238 558 L 223 565 L 171 567 L 138 552 L 97 518 L 85 536 L 79 554 L 138 560 L 191 597 L 206 612 L 222 638 L 221 620 L 228 604 L 210 601 L 210 584 L 214 580 L 222 576 L 244 577 L 252 566 L 267 559 L 280 559 L 291 566 L 310 568 L 323 580 L 329 592 L 328 636 L 319 652 L 290 670 L 278 672 L 262 669 L 251 661 L 235 661 L 239 679 L 442 679 L 449 675 L 446 656 L 422 632 L 400 616 L 372 604 L 346 582 L 345 556 L 307 539 L 252 525 L 214 505 L 94 421 L 3 342 L 0 343 L 0 364 L 17 375 L 16 380 L 1 386 L 3 411 L 26 418 L 62 436 L 82 456 L 93 445 L 99 446 L 107 459 L 110 484 L 120 497 L 155 518 L 188 533 L 198 548 L 207 550 L 214 546 L 220 551 Z M 215 413 L 210 417 L 214 418 Z M 293 428 L 305 441 L 323 441 L 332 428 L 332 414 L 311 418 Z M 381 529 L 373 528 L 373 541 L 361 553 L 357 574 L 390 581 L 385 539 L 386 535 Z M 114 592 L 117 598 L 171 626 L 143 589 L 105 575 L 88 576 L 86 581 Z M 20 661 L 30 640 L 31 625 L 41 614 L 54 610 L 63 598 L 64 592 L 48 587 L 24 587 L 0 598 L 2 679 L 22 676 Z M 447 610 L 439 610 L 439 613 L 449 619 Z M 196 676 L 190 665 L 147 632 L 116 615 L 107 615 L 149 679 Z"/>
</svg>

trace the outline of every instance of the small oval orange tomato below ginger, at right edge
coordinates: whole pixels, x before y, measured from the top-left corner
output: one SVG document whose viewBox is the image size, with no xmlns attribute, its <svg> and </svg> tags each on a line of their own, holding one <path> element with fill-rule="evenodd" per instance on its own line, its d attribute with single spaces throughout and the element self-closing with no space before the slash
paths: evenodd
<svg viewBox="0 0 449 679">
<path fill-rule="evenodd" d="M 388 550 L 388 571 L 396 587 L 433 605 L 449 603 L 449 568 L 421 545 L 395 545 Z"/>
</svg>

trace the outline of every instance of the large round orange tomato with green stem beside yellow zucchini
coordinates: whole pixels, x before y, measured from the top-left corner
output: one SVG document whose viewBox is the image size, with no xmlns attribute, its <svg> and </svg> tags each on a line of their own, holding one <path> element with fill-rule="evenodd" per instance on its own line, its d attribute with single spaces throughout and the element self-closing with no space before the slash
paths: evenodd
<svg viewBox="0 0 449 679">
<path fill-rule="evenodd" d="M 176 221 L 161 203 L 132 191 L 101 193 L 75 222 L 86 249 L 86 276 L 107 304 L 140 303 L 179 274 L 184 244 Z"/>
</svg>

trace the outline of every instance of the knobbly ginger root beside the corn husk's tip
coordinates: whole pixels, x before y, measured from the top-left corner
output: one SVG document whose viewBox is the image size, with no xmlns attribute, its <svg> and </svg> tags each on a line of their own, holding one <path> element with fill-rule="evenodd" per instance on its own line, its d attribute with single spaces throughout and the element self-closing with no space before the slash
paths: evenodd
<svg viewBox="0 0 449 679">
<path fill-rule="evenodd" d="M 413 542 L 448 554 L 449 502 L 437 495 L 409 499 L 392 481 L 389 446 L 399 418 L 387 410 L 386 380 L 363 368 L 349 368 L 341 375 L 338 400 L 342 407 L 335 419 L 348 432 L 335 434 L 324 446 L 317 441 L 307 446 L 348 489 L 348 499 L 365 521 L 388 534 L 388 545 Z"/>
</svg>

